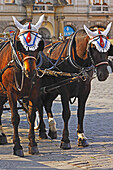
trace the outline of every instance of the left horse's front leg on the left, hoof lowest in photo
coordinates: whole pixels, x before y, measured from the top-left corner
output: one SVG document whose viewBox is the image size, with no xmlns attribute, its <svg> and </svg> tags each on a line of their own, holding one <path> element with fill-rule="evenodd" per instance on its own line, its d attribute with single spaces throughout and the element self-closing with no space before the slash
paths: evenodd
<svg viewBox="0 0 113 170">
<path fill-rule="evenodd" d="M 13 93 L 10 92 L 10 94 L 11 95 L 8 95 L 8 99 L 9 99 L 9 105 L 10 105 L 10 109 L 11 109 L 11 122 L 12 122 L 13 128 L 14 128 L 13 154 L 23 157 L 24 153 L 23 153 L 22 146 L 20 145 L 20 139 L 19 139 L 19 135 L 18 135 L 18 126 L 19 126 L 19 122 L 20 122 L 20 116 L 19 116 L 18 110 L 17 110 L 17 100 L 12 95 Z"/>
</svg>

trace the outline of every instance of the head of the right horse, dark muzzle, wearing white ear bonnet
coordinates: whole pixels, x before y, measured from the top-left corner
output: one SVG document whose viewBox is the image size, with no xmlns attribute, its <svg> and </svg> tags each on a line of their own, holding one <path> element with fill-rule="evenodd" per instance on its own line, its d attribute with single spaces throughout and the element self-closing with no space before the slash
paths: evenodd
<svg viewBox="0 0 113 170">
<path fill-rule="evenodd" d="M 84 29 L 89 37 L 88 53 L 92 64 L 97 70 L 97 77 L 99 81 L 104 81 L 109 76 L 108 73 L 108 51 L 110 49 L 110 41 L 107 39 L 107 34 L 110 31 L 111 24 L 109 23 L 104 31 L 99 29 L 96 31 L 89 30 L 85 25 Z"/>
</svg>

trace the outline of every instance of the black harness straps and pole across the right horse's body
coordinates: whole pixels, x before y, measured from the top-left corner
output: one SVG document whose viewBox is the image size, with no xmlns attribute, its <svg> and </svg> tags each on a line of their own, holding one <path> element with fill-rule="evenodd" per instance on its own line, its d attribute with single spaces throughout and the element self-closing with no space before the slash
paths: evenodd
<svg viewBox="0 0 113 170">
<path fill-rule="evenodd" d="M 95 63 L 94 63 L 94 60 L 93 60 L 92 55 L 91 55 L 91 42 L 90 42 L 90 43 L 88 43 L 88 45 L 87 45 L 88 60 L 90 60 L 90 66 L 88 66 L 88 67 L 82 67 L 82 66 L 78 65 L 77 62 L 76 62 L 75 60 L 73 60 L 73 55 L 72 55 L 72 44 L 73 44 L 73 42 L 76 43 L 76 42 L 74 41 L 76 34 L 77 34 L 77 32 L 75 32 L 75 33 L 72 35 L 72 38 L 71 38 L 71 39 L 67 39 L 67 40 L 66 40 L 66 43 L 65 43 L 65 45 L 64 45 L 64 47 L 63 47 L 63 49 L 62 49 L 62 51 L 61 51 L 61 53 L 60 53 L 60 55 L 59 55 L 59 57 L 58 57 L 58 60 L 57 60 L 55 63 L 53 63 L 53 62 L 51 61 L 51 59 L 50 59 L 49 57 L 47 57 L 43 52 L 41 53 L 41 55 L 43 55 L 43 56 L 53 65 L 52 67 L 46 69 L 45 74 L 47 73 L 48 75 L 54 75 L 54 76 L 57 77 L 57 76 L 59 76 L 60 73 L 61 73 L 61 76 L 67 76 L 67 77 L 69 76 L 69 77 L 71 77 L 71 78 L 67 78 L 67 79 L 65 79 L 65 80 L 63 80 L 63 81 L 61 81 L 61 82 L 52 84 L 52 85 L 50 85 L 50 86 L 42 87 L 42 88 L 41 88 L 41 91 L 42 91 L 43 93 L 50 92 L 50 91 L 52 91 L 52 90 L 55 90 L 55 89 L 57 89 L 57 88 L 65 85 L 65 84 L 69 84 L 69 83 L 71 83 L 71 82 L 73 82 L 73 81 L 75 81 L 75 80 L 78 80 L 78 79 L 81 79 L 82 81 L 86 81 L 87 78 L 92 79 L 92 75 L 91 75 L 91 77 L 88 75 L 88 73 L 89 73 L 90 71 L 94 71 L 94 69 L 95 69 L 96 67 L 98 67 L 99 65 L 108 64 L 108 62 L 100 62 L 100 63 L 98 63 L 98 64 L 95 64 Z M 99 35 L 99 36 L 100 36 L 100 35 Z M 61 55 L 63 54 L 63 52 L 64 52 L 64 50 L 65 50 L 65 47 L 66 47 L 66 45 L 67 45 L 68 42 L 69 42 L 69 44 L 68 44 L 68 50 L 67 50 L 67 57 L 64 58 L 63 61 L 60 61 Z M 62 43 L 62 42 L 61 42 L 61 43 Z M 55 47 L 58 47 L 61 43 L 56 44 L 56 45 L 54 45 L 54 46 L 55 46 Z M 79 58 L 79 56 L 77 56 L 77 53 L 76 53 L 76 44 L 74 44 L 74 45 L 75 45 L 75 50 L 74 50 L 75 58 Z M 53 47 L 53 49 L 52 49 L 52 47 L 51 47 L 50 49 L 51 49 L 51 50 L 50 50 L 50 51 L 51 51 L 51 52 L 50 52 L 50 55 L 51 55 L 52 52 L 54 51 L 54 49 L 56 49 L 56 48 Z M 76 70 L 78 70 L 78 74 L 77 74 L 77 73 L 70 73 L 70 75 L 69 75 L 68 73 L 65 73 L 65 72 L 62 72 L 61 70 L 59 70 L 58 66 L 59 66 L 60 64 L 62 64 L 63 62 L 65 62 L 66 60 L 69 61 L 69 63 L 71 64 L 71 66 L 73 66 L 74 68 L 76 68 Z M 59 61 L 60 61 L 60 63 L 59 63 Z M 55 70 L 57 69 L 58 71 L 60 71 L 60 73 L 59 73 L 58 71 L 55 71 L 54 69 L 55 69 Z M 40 71 L 42 71 L 42 70 L 40 70 Z M 43 72 L 43 71 L 42 71 L 42 72 Z M 43 74 L 43 75 L 44 75 L 44 74 Z"/>
</svg>

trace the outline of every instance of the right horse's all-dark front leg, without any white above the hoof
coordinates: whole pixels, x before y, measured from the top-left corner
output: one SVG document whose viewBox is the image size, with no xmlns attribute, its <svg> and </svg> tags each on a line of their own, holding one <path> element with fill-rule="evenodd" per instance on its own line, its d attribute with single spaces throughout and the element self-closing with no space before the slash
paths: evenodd
<svg viewBox="0 0 113 170">
<path fill-rule="evenodd" d="M 61 96 L 62 100 L 62 117 L 64 121 L 64 129 L 63 129 L 63 137 L 61 140 L 60 148 L 62 149 L 71 149 L 70 140 L 69 140 L 69 130 L 68 130 L 68 121 L 71 115 L 70 108 L 69 108 L 69 100 L 68 97 L 65 95 Z"/>
</svg>

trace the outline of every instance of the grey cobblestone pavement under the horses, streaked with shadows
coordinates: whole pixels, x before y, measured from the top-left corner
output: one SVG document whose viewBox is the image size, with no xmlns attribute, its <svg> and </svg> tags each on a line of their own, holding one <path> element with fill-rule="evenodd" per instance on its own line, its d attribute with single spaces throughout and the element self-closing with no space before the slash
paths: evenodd
<svg viewBox="0 0 113 170">
<path fill-rule="evenodd" d="M 59 147 L 63 122 L 61 104 L 59 100 L 56 100 L 53 112 L 57 124 L 58 138 L 56 140 L 38 141 L 38 131 L 36 131 L 39 155 L 28 154 L 28 123 L 26 114 L 22 110 L 19 111 L 21 115 L 19 132 L 25 153 L 24 158 L 12 155 L 13 129 L 10 112 L 5 111 L 2 120 L 8 144 L 0 145 L 0 170 L 113 169 L 113 74 L 105 82 L 99 82 L 97 79 L 92 80 L 92 90 L 87 101 L 84 120 L 85 135 L 89 140 L 89 147 L 77 147 L 77 101 L 70 107 L 72 116 L 69 121 L 69 129 L 72 149 L 61 150 Z M 44 121 L 48 131 L 46 114 Z"/>
</svg>

